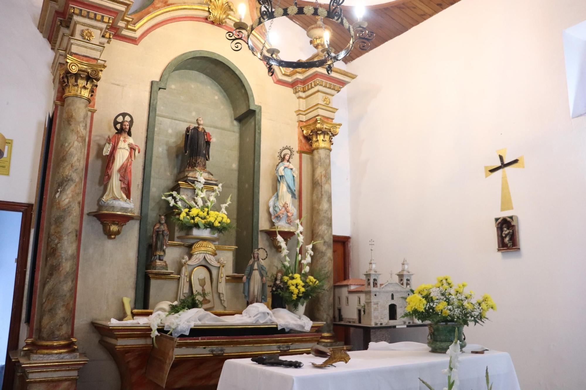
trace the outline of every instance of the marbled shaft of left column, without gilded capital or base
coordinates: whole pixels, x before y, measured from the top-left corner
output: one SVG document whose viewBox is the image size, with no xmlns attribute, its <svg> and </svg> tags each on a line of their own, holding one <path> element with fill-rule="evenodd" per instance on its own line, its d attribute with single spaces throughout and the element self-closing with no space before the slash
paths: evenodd
<svg viewBox="0 0 586 390">
<path fill-rule="evenodd" d="M 77 268 L 77 235 L 86 161 L 88 101 L 65 98 L 53 146 L 50 218 L 39 340 L 71 338 Z"/>
</svg>

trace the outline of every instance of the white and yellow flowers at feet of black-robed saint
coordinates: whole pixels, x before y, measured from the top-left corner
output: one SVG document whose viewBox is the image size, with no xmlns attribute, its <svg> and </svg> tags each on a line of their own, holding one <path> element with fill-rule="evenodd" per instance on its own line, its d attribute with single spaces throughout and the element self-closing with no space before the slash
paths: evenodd
<svg viewBox="0 0 586 390">
<path fill-rule="evenodd" d="M 228 201 L 220 206 L 220 211 L 214 211 L 212 207 L 216 204 L 216 197 L 222 192 L 222 183 L 218 184 L 212 194 L 206 197 L 206 190 L 203 189 L 204 182 L 202 172 L 198 170 L 195 184 L 189 182 L 195 189 L 193 201 L 179 195 L 176 191 L 166 192 L 163 194 L 162 199 L 168 201 L 169 205 L 175 208 L 173 219 L 182 228 L 195 227 L 220 233 L 230 230 L 234 226 L 226 214 L 226 207 L 231 203 L 232 196 L 230 195 Z"/>
</svg>

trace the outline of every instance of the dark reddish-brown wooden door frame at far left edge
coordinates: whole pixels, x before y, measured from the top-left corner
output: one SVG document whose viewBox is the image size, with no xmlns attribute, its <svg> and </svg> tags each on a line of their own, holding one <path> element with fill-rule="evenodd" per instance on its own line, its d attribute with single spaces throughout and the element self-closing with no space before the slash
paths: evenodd
<svg viewBox="0 0 586 390">
<path fill-rule="evenodd" d="M 22 213 L 21 237 L 18 241 L 18 257 L 16 258 L 16 276 L 14 292 L 12 294 L 12 314 L 10 329 L 8 330 L 8 348 L 6 351 L 6 365 L 4 368 L 3 389 L 11 389 L 14 381 L 14 364 L 10 358 L 10 351 L 18 350 L 18 337 L 21 333 L 22 301 L 25 295 L 26 262 L 29 257 L 30 225 L 33 219 L 33 205 L 0 201 L 0 210 L 18 211 Z"/>
</svg>

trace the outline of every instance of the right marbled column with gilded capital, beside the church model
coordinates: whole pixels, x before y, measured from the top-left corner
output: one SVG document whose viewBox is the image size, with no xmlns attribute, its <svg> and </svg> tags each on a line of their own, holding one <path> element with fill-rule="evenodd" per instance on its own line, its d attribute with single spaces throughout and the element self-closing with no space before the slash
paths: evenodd
<svg viewBox="0 0 586 390">
<path fill-rule="evenodd" d="M 333 331 L 333 243 L 332 243 L 332 168 L 331 156 L 333 137 L 338 134 L 339 123 L 322 117 L 301 126 L 303 134 L 311 141 L 314 166 L 312 189 L 313 241 L 322 241 L 314 246 L 312 267 L 326 273 L 322 280 L 326 289 L 311 299 L 311 319 L 324 321 L 322 333 Z"/>
</svg>

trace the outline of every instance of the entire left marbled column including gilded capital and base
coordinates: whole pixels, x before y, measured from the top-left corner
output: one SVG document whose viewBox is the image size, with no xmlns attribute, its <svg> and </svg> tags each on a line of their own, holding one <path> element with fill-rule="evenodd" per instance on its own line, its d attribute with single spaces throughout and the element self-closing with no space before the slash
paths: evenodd
<svg viewBox="0 0 586 390">
<path fill-rule="evenodd" d="M 77 269 L 77 243 L 83 193 L 88 132 L 88 104 L 100 80 L 103 64 L 67 56 L 62 72 L 63 108 L 57 118 L 50 172 L 47 247 L 40 299 L 40 348 L 53 353 L 75 351 L 71 321 Z M 48 343 L 61 341 L 62 343 Z M 47 348 L 48 347 L 48 348 Z"/>
</svg>

